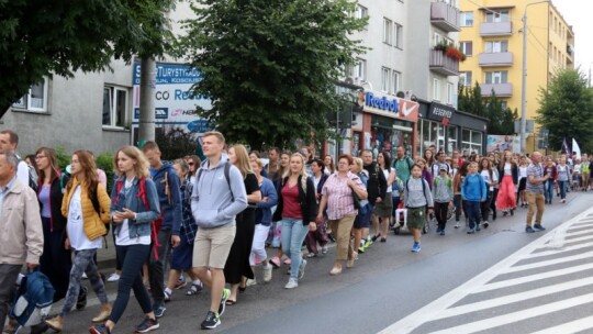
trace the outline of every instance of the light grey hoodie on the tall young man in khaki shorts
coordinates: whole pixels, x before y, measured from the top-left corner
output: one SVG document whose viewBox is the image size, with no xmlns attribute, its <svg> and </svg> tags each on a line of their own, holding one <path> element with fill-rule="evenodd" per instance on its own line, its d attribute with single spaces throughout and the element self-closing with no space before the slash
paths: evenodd
<svg viewBox="0 0 593 334">
<path fill-rule="evenodd" d="M 224 166 L 231 164 L 222 156 L 219 164 L 210 167 L 206 159 L 202 163 L 193 185 L 191 211 L 195 223 L 201 229 L 213 229 L 227 224 L 235 225 L 235 215 L 247 208 L 247 192 L 243 176 L 237 167 L 231 166 L 228 182 L 224 176 Z"/>
</svg>

